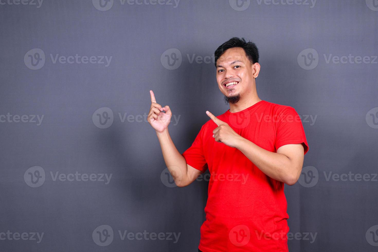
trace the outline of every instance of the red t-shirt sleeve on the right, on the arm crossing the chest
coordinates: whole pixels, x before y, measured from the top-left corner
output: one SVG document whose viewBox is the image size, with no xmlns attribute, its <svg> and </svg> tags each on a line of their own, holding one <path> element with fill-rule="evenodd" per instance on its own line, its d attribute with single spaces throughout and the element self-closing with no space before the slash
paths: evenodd
<svg viewBox="0 0 378 252">
<path fill-rule="evenodd" d="M 302 144 L 304 154 L 308 152 L 308 143 L 302 120 L 293 107 L 285 108 L 277 117 L 276 150 L 286 144 Z"/>
</svg>

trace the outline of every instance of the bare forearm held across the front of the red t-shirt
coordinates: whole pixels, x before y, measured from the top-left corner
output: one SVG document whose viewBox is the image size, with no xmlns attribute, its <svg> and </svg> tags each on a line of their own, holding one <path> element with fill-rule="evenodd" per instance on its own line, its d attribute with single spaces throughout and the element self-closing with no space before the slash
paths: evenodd
<svg viewBox="0 0 378 252">
<path fill-rule="evenodd" d="M 265 150 L 242 136 L 235 147 L 270 178 L 289 185 L 297 180 L 297 174 L 293 173 L 291 160 L 287 156 Z"/>
</svg>

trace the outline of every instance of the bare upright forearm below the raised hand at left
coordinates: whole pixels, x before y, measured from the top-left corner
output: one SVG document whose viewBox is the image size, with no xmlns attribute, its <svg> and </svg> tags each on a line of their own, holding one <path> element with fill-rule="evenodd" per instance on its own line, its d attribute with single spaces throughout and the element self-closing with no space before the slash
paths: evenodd
<svg viewBox="0 0 378 252">
<path fill-rule="evenodd" d="M 175 144 L 170 138 L 168 128 L 161 133 L 156 132 L 158 136 L 161 152 L 168 167 L 169 172 L 179 186 L 187 182 L 187 164 L 185 158 L 178 152 Z"/>
</svg>

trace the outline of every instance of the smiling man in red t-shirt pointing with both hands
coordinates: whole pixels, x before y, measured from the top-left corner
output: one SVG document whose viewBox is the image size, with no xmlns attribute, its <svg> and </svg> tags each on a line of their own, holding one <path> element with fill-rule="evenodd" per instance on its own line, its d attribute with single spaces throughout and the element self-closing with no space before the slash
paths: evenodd
<svg viewBox="0 0 378 252">
<path fill-rule="evenodd" d="M 182 155 L 168 133 L 169 106 L 153 91 L 148 121 L 179 187 L 209 169 L 206 221 L 198 251 L 288 251 L 284 184 L 298 180 L 308 144 L 301 119 L 289 106 L 261 100 L 256 91 L 259 52 L 234 37 L 214 53 L 217 82 L 230 109 L 210 117 Z M 207 165 L 206 165 L 207 164 Z"/>
</svg>

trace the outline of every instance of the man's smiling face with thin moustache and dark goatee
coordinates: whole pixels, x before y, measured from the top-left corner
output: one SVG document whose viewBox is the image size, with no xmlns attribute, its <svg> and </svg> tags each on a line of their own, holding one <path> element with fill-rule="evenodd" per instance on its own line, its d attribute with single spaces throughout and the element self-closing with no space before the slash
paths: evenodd
<svg viewBox="0 0 378 252">
<path fill-rule="evenodd" d="M 217 60 L 217 82 L 226 102 L 236 103 L 253 83 L 252 64 L 243 48 L 227 49 Z"/>
</svg>

